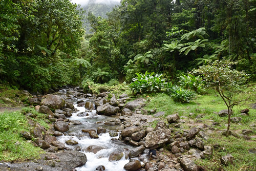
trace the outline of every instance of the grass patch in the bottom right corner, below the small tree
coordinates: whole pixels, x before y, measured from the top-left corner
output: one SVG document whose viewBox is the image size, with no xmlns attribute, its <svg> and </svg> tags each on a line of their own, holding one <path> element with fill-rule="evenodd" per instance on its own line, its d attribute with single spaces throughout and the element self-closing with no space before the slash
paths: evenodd
<svg viewBox="0 0 256 171">
<path fill-rule="evenodd" d="M 206 143 L 207 145 L 219 144 L 220 148 L 214 149 L 214 154 L 210 159 L 197 160 L 197 164 L 206 167 L 208 170 L 218 170 L 222 167 L 224 170 L 255 170 L 256 158 L 255 154 L 249 153 L 249 149 L 256 147 L 255 141 L 248 141 L 233 136 L 221 136 L 220 134 L 212 134 Z M 220 162 L 220 158 L 227 154 L 234 157 L 233 164 L 224 166 Z"/>
</svg>

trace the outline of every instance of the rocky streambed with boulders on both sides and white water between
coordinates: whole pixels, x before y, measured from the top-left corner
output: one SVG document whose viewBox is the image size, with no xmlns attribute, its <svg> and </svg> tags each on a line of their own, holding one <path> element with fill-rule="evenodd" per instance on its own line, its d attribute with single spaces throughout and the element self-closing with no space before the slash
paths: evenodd
<svg viewBox="0 0 256 171">
<path fill-rule="evenodd" d="M 129 99 L 84 94 L 79 88 L 29 98 L 52 126 L 46 130 L 31 122 L 33 129 L 20 134 L 45 153 L 29 162 L 0 163 L 0 170 L 205 170 L 194 161 L 212 156 L 214 147 L 205 141 L 214 128 L 190 122 L 191 129 L 177 131 L 185 124 L 178 114 L 163 121 L 157 118 L 161 112 L 146 115 L 145 99 Z M 232 163 L 232 156 L 222 163 Z"/>
</svg>

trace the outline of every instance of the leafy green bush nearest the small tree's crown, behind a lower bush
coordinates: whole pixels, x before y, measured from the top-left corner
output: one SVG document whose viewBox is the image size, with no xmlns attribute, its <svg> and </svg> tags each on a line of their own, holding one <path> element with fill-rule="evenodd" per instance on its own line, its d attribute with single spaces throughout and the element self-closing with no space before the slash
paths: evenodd
<svg viewBox="0 0 256 171">
<path fill-rule="evenodd" d="M 182 76 L 180 76 L 179 83 L 185 89 L 194 90 L 197 93 L 202 92 L 202 90 L 204 89 L 204 81 L 202 80 L 200 75 L 196 77 L 195 75 L 191 74 L 188 74 L 187 76 L 182 74 Z"/>
</svg>

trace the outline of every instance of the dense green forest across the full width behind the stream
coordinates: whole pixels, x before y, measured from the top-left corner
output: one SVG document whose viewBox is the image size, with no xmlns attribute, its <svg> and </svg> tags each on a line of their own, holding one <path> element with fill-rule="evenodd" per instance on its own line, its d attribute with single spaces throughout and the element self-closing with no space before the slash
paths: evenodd
<svg viewBox="0 0 256 171">
<path fill-rule="evenodd" d="M 232 68 L 255 79 L 255 4 L 122 0 L 108 18 L 87 12 L 91 30 L 84 34 L 84 11 L 68 0 L 3 0 L 1 83 L 48 91 L 87 79 L 130 83 L 136 73 L 146 71 L 176 81 L 221 59 L 238 61 Z M 197 92 L 201 87 L 181 86 Z"/>
</svg>

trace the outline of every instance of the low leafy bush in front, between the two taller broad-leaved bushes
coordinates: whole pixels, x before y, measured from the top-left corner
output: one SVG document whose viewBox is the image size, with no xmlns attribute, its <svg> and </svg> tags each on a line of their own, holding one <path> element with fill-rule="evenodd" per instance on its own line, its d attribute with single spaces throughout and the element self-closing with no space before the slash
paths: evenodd
<svg viewBox="0 0 256 171">
<path fill-rule="evenodd" d="M 168 89 L 168 94 L 172 97 L 175 102 L 188 103 L 195 97 L 195 93 L 190 90 L 185 90 L 178 86 L 173 86 Z"/>
</svg>

